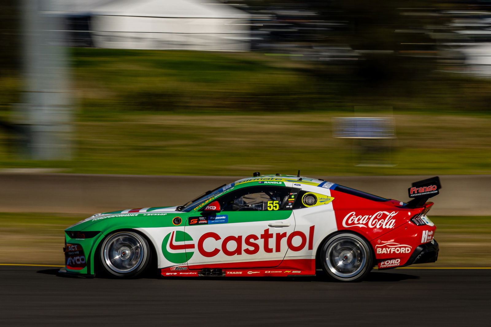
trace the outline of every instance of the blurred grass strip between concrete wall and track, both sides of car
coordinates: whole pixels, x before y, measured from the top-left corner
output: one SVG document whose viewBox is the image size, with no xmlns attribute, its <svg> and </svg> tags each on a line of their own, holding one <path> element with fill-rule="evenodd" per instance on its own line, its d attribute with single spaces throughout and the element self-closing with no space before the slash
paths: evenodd
<svg viewBox="0 0 491 327">
<path fill-rule="evenodd" d="M 63 230 L 83 216 L 0 213 L 0 263 L 63 265 Z M 438 261 L 411 267 L 491 267 L 490 216 L 432 216 Z"/>
</svg>

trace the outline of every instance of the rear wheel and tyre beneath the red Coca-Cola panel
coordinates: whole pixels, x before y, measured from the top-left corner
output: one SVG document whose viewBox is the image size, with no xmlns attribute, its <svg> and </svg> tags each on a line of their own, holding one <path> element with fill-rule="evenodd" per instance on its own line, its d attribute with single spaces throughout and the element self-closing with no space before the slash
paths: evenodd
<svg viewBox="0 0 491 327">
<path fill-rule="evenodd" d="M 330 278 L 356 282 L 372 270 L 372 253 L 372 247 L 364 238 L 353 233 L 339 233 L 324 242 L 319 259 Z"/>
</svg>

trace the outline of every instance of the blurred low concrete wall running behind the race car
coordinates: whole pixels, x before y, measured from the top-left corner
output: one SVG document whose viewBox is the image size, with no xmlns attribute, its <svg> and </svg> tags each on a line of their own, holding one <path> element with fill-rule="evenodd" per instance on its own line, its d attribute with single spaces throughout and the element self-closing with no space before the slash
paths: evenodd
<svg viewBox="0 0 491 327">
<path fill-rule="evenodd" d="M 184 204 L 247 176 L 145 176 L 0 173 L 0 212 L 95 214 Z M 433 176 L 317 176 L 407 201 L 412 182 Z M 443 175 L 431 215 L 491 215 L 491 175 Z"/>
</svg>

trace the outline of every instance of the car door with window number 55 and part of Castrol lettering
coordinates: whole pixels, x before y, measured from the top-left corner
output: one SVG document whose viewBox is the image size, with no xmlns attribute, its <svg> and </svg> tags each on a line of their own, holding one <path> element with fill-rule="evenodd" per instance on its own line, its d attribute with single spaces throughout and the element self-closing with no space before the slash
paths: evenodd
<svg viewBox="0 0 491 327">
<path fill-rule="evenodd" d="M 290 193 L 287 187 L 246 187 L 203 206 L 215 211 L 190 214 L 185 224 L 188 243 L 194 244 L 186 249 L 189 269 L 278 266 L 295 237 Z"/>
</svg>

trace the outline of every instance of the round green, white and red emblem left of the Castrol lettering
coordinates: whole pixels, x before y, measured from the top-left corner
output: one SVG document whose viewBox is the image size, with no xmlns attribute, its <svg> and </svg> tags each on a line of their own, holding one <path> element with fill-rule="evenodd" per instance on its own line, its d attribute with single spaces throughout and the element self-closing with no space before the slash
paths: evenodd
<svg viewBox="0 0 491 327">
<path fill-rule="evenodd" d="M 162 253 L 164 253 L 165 259 L 170 262 L 181 264 L 191 259 L 194 252 L 186 252 L 186 250 L 193 249 L 194 243 L 192 242 L 191 235 L 186 232 L 176 230 L 164 237 L 162 241 Z"/>
</svg>

